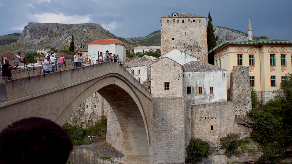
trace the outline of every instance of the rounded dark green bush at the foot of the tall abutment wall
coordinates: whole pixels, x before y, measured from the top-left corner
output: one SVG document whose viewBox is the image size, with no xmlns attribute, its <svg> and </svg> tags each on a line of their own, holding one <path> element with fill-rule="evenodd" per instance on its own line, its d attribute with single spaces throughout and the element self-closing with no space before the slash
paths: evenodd
<svg viewBox="0 0 292 164">
<path fill-rule="evenodd" d="M 201 156 L 208 157 L 211 153 L 209 152 L 210 145 L 208 142 L 202 141 L 202 139 L 193 138 L 190 144 L 187 146 L 187 158 L 185 163 L 197 163 L 201 161 Z"/>
</svg>

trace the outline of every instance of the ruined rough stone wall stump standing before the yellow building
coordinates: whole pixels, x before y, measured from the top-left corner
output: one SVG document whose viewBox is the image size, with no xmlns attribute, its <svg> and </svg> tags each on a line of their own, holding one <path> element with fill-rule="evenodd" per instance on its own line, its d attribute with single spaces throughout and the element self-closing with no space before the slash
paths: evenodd
<svg viewBox="0 0 292 164">
<path fill-rule="evenodd" d="M 236 115 L 245 115 L 251 109 L 251 88 L 249 67 L 233 66 L 230 73 L 230 101 L 237 101 L 240 107 Z"/>
</svg>

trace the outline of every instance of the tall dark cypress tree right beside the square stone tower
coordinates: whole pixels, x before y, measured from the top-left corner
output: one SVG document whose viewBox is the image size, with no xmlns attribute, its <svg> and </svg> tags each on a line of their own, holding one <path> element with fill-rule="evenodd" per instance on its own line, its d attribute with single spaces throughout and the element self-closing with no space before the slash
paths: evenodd
<svg viewBox="0 0 292 164">
<path fill-rule="evenodd" d="M 207 26 L 207 44 L 208 44 L 208 51 L 213 49 L 216 46 L 216 39 L 213 31 L 212 25 L 212 18 L 210 12 L 208 14 L 208 26 Z M 214 54 L 208 54 L 208 63 L 214 65 Z"/>
</svg>

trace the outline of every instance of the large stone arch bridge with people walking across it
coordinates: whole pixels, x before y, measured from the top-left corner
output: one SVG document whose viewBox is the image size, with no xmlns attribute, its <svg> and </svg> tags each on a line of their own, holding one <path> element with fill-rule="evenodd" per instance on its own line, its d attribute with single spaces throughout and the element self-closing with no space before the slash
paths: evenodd
<svg viewBox="0 0 292 164">
<path fill-rule="evenodd" d="M 150 163 L 151 94 L 116 62 L 0 82 L 0 131 L 32 116 L 62 126 L 96 91 L 117 115 L 126 162 Z"/>
</svg>

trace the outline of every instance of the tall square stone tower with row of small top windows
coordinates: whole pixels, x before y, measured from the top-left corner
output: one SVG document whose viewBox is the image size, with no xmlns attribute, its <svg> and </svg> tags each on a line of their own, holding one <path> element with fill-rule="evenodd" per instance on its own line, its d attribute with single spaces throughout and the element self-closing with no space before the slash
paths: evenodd
<svg viewBox="0 0 292 164">
<path fill-rule="evenodd" d="M 160 23 L 161 55 L 177 48 L 208 62 L 207 17 L 174 12 L 161 17 Z"/>
</svg>

